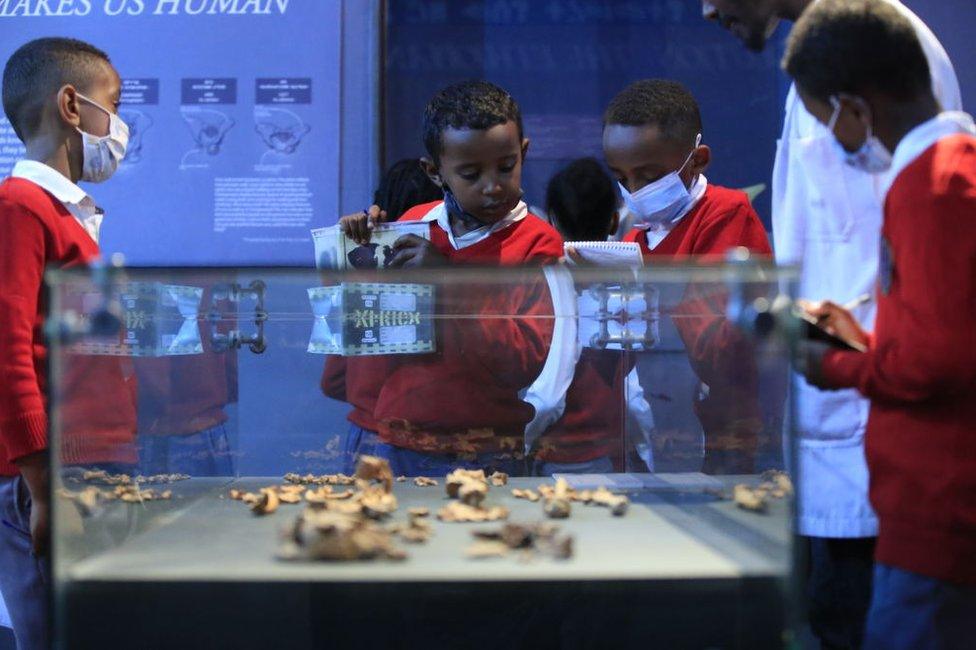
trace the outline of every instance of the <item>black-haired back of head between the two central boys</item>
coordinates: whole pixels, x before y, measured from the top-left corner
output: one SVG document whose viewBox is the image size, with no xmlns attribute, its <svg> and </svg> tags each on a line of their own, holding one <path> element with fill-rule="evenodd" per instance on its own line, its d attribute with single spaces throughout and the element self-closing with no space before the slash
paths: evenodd
<svg viewBox="0 0 976 650">
<path fill-rule="evenodd" d="M 546 213 L 567 239 L 606 239 L 616 211 L 617 190 L 595 158 L 574 160 L 549 179 Z"/>
</svg>

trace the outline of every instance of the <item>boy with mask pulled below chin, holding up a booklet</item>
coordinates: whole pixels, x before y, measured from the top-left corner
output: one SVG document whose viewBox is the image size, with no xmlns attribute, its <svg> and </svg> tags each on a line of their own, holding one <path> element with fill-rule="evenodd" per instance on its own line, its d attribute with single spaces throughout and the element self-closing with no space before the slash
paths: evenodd
<svg viewBox="0 0 976 650">
<path fill-rule="evenodd" d="M 400 238 L 390 266 L 544 265 L 561 257 L 559 234 L 522 201 L 529 141 L 507 92 L 485 81 L 444 88 L 424 113 L 424 145 L 424 169 L 444 200 L 401 217 L 428 222 L 430 239 Z M 367 243 L 379 217 L 373 206 L 341 224 Z M 353 405 L 345 452 L 349 458 L 384 456 L 398 474 L 440 474 L 458 466 L 521 473 L 523 430 L 533 410 L 519 391 L 542 369 L 552 333 L 542 274 L 527 274 L 517 285 L 444 284 L 438 292 L 447 317 L 437 353 L 345 364 L 345 395 Z M 324 385 L 342 383 L 333 378 Z"/>
</svg>

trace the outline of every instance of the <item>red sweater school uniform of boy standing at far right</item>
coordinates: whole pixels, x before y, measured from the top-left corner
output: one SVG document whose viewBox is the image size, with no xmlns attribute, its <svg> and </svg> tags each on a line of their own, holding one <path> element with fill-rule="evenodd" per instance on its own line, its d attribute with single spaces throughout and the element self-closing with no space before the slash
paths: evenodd
<svg viewBox="0 0 976 650">
<path fill-rule="evenodd" d="M 829 386 L 871 401 L 866 458 L 879 528 L 865 643 L 963 647 L 969 635 L 954 635 L 976 612 L 972 119 L 943 113 L 916 127 L 884 182 L 869 349 L 831 351 L 822 364 Z"/>
</svg>

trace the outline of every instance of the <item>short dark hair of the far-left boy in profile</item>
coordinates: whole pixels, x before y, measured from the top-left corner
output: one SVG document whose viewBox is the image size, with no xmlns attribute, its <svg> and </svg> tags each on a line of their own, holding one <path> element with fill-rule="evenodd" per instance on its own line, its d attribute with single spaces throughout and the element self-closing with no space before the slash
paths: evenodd
<svg viewBox="0 0 976 650">
<path fill-rule="evenodd" d="M 61 86 L 85 92 L 100 63 L 111 63 L 94 45 L 74 38 L 38 38 L 21 45 L 3 69 L 3 112 L 21 140 L 40 126 L 40 105 Z"/>
</svg>

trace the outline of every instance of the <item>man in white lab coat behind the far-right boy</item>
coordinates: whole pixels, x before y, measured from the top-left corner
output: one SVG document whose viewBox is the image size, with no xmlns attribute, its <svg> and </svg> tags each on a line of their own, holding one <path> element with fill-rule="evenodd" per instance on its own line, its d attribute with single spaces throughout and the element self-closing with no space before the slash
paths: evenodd
<svg viewBox="0 0 976 650">
<path fill-rule="evenodd" d="M 706 18 L 761 51 L 781 20 L 795 21 L 817 0 L 708 0 Z M 955 72 L 945 50 L 917 16 L 890 0 L 915 25 L 929 61 L 935 97 L 961 110 Z M 845 303 L 874 294 L 884 178 L 844 162 L 831 133 L 790 89 L 773 168 L 773 246 L 782 264 L 802 264 L 799 294 Z M 873 303 L 855 315 L 865 328 Z M 856 391 L 823 392 L 801 377 L 792 383 L 799 464 L 797 532 L 810 559 L 809 618 L 824 647 L 861 644 L 870 599 L 877 519 L 868 502 L 864 431 L 868 402 Z"/>
</svg>

